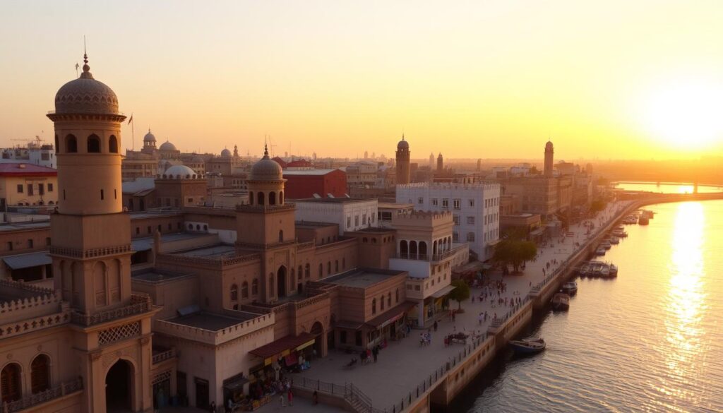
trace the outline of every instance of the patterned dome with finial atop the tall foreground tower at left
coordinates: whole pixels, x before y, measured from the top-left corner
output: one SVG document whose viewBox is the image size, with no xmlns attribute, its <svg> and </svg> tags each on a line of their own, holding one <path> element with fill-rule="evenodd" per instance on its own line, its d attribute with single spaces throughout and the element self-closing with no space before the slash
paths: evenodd
<svg viewBox="0 0 723 413">
<path fill-rule="evenodd" d="M 93 79 L 83 56 L 83 72 L 75 80 L 62 85 L 55 95 L 57 114 L 118 114 L 118 97 L 103 82 Z"/>
</svg>

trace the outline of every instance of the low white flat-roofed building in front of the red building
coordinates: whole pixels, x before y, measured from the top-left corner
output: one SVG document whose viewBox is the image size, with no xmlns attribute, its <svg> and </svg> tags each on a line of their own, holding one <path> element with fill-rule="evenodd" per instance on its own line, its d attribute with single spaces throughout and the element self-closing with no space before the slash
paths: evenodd
<svg viewBox="0 0 723 413">
<path fill-rule="evenodd" d="M 376 199 L 309 198 L 294 200 L 294 204 L 296 221 L 337 223 L 339 235 L 377 226 Z"/>
</svg>

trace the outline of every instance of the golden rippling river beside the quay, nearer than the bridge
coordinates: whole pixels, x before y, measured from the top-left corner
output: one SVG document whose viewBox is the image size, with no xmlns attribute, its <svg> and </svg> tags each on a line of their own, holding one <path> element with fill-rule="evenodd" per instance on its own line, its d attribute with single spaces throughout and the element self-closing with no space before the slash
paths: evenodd
<svg viewBox="0 0 723 413">
<path fill-rule="evenodd" d="M 453 411 L 723 412 L 723 201 L 647 208 L 604 257 L 617 279 L 578 279 L 534 331 L 547 351 L 492 367 Z"/>
</svg>

